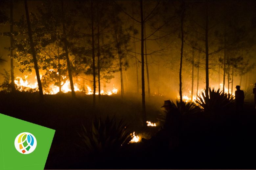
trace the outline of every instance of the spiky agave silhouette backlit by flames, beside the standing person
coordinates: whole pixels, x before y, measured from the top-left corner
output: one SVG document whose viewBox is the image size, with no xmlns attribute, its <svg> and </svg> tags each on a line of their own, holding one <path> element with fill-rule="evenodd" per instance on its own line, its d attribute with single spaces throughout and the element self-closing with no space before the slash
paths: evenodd
<svg viewBox="0 0 256 170">
<path fill-rule="evenodd" d="M 232 94 L 223 93 L 220 89 L 215 91 L 214 88 L 212 90 L 209 88 L 209 99 L 206 99 L 205 93 L 202 92 L 202 95 L 198 96 L 196 100 L 202 110 L 216 113 L 229 109 L 233 102 L 234 96 Z"/>
</svg>

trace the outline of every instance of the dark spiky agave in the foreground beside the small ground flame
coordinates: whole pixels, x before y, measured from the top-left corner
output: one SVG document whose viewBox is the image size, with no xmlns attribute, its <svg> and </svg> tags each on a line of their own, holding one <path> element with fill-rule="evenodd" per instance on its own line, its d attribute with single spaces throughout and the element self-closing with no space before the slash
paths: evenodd
<svg viewBox="0 0 256 170">
<path fill-rule="evenodd" d="M 101 118 L 95 118 L 89 129 L 82 127 L 83 132 L 79 136 L 84 145 L 81 147 L 95 155 L 115 153 L 132 138 L 124 121 L 117 122 L 115 117 L 110 119 L 107 116 L 105 122 Z"/>
</svg>

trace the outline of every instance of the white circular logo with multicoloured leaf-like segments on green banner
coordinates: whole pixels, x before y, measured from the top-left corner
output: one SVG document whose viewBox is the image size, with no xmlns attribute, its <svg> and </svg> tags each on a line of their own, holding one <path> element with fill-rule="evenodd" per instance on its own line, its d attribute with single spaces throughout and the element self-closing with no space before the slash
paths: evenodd
<svg viewBox="0 0 256 170">
<path fill-rule="evenodd" d="M 36 148 L 35 136 L 29 132 L 22 132 L 15 138 L 14 145 L 19 153 L 29 154 Z"/>
</svg>

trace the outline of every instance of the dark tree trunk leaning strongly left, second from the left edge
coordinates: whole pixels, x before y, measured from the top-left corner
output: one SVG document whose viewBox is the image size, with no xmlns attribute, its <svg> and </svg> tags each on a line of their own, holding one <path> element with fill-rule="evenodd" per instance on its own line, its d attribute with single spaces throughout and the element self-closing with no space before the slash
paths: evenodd
<svg viewBox="0 0 256 170">
<path fill-rule="evenodd" d="M 39 96 L 40 96 L 40 101 L 43 101 L 43 88 L 40 80 L 40 74 L 39 74 L 39 69 L 37 65 L 37 59 L 35 55 L 35 48 L 34 48 L 34 42 L 32 38 L 32 30 L 31 30 L 31 25 L 30 25 L 30 20 L 29 20 L 29 11 L 28 11 L 28 4 L 27 1 L 24 0 L 25 3 L 25 10 L 26 10 L 26 18 L 27 18 L 27 24 L 28 24 L 28 34 L 29 34 L 29 40 L 30 40 L 30 46 L 31 46 L 31 51 L 32 51 L 32 56 L 33 56 L 33 61 L 34 61 L 34 66 L 35 66 L 35 74 L 36 74 L 36 79 L 38 83 L 38 90 L 39 90 Z"/>
</svg>

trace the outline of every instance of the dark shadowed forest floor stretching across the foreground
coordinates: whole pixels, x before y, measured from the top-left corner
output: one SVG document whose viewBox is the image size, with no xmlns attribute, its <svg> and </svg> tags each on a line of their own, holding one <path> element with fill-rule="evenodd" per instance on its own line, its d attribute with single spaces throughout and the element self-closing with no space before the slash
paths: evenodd
<svg viewBox="0 0 256 170">
<path fill-rule="evenodd" d="M 151 97 L 147 120 L 157 122 L 164 97 Z M 92 111 L 92 96 L 45 95 L 40 103 L 37 93 L 0 93 L 0 113 L 56 130 L 45 169 L 256 169 L 256 113 L 251 100 L 244 111 L 212 117 L 207 114 L 183 116 L 179 148 L 168 150 L 165 143 L 129 144 L 118 157 L 90 162 L 77 132 L 88 127 L 95 116 L 124 119 L 129 128 L 149 138 L 159 127 L 143 128 L 140 98 L 122 102 L 120 96 L 102 96 L 101 105 Z"/>
</svg>

